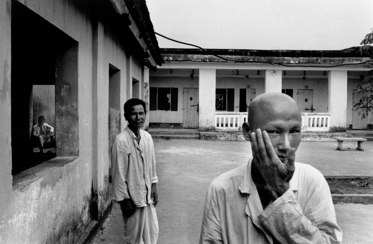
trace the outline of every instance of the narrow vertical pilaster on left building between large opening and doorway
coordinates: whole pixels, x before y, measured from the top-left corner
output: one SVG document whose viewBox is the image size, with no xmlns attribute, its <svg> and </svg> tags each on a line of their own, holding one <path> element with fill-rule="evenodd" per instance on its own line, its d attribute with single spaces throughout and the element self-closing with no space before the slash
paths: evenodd
<svg viewBox="0 0 373 244">
<path fill-rule="evenodd" d="M 93 41 L 92 184 L 93 219 L 101 219 L 109 190 L 109 62 L 106 60 L 104 26 L 98 21 Z"/>
</svg>

